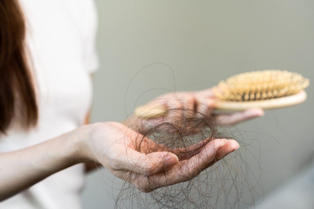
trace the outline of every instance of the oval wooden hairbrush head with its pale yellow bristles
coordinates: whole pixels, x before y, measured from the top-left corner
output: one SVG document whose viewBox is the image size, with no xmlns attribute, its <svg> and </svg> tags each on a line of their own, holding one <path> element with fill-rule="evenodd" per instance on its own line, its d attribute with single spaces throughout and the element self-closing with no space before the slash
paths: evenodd
<svg viewBox="0 0 314 209">
<path fill-rule="evenodd" d="M 264 70 L 241 73 L 214 87 L 218 110 L 287 107 L 306 100 L 309 80 L 298 73 Z"/>
</svg>

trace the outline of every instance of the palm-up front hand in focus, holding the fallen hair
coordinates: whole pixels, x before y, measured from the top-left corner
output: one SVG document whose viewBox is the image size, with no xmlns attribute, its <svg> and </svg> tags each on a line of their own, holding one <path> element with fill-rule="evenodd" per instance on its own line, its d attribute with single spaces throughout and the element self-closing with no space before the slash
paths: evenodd
<svg viewBox="0 0 314 209">
<path fill-rule="evenodd" d="M 215 139 L 198 154 L 179 161 L 171 152 L 151 152 L 160 144 L 121 123 L 96 123 L 83 129 L 82 136 L 90 137 L 82 140 L 81 158 L 95 160 L 144 192 L 190 180 L 239 147 L 235 140 Z"/>
</svg>

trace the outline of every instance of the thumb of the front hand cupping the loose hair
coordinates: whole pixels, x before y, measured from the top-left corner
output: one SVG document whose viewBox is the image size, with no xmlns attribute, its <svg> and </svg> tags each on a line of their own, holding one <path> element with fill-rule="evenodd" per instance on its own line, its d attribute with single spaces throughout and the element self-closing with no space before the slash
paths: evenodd
<svg viewBox="0 0 314 209">
<path fill-rule="evenodd" d="M 128 170 L 137 174 L 150 176 L 178 164 L 178 157 L 170 152 L 153 152 L 143 154 L 127 149 L 124 156 L 116 160 L 115 170 Z"/>
</svg>

